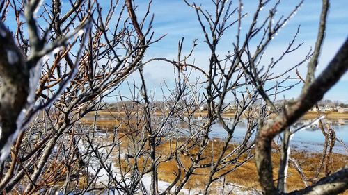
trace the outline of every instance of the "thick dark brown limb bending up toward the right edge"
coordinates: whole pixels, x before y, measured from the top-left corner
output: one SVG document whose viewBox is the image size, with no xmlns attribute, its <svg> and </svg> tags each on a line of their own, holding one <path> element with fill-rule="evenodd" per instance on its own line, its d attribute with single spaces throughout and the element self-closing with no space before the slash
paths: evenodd
<svg viewBox="0 0 348 195">
<path fill-rule="evenodd" d="M 310 108 L 321 100 L 324 94 L 340 80 L 348 69 L 348 39 L 335 55 L 328 67 L 308 87 L 298 101 L 287 108 L 271 124 L 263 126 L 256 138 L 256 166 L 262 190 L 265 194 L 277 194 L 273 182 L 271 164 L 271 140 L 290 127 Z M 348 176 L 347 176 L 348 177 Z"/>
</svg>

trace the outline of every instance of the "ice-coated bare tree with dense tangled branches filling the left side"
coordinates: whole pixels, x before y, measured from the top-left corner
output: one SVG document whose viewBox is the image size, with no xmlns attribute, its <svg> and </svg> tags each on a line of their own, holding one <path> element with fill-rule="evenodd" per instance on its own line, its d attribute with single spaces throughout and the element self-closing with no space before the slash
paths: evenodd
<svg viewBox="0 0 348 195">
<path fill-rule="evenodd" d="M 1 1 L 2 20 L 11 13 L 17 22 L 13 34 L 1 22 L 1 162 L 19 135 L 11 167 L 0 184 L 6 192 L 19 182 L 29 184 L 24 193 L 37 192 L 49 186 L 49 177 L 42 173 L 64 175 L 64 169 L 71 169 L 68 160 L 81 157 L 74 125 L 88 112 L 103 108 L 101 99 L 142 66 L 146 48 L 157 41 L 152 40 L 149 13 L 137 19 L 132 1 L 110 1 L 103 12 L 97 1 L 70 2 L 67 12 L 61 9 L 62 1 L 40 2 Z M 23 133 L 34 116 L 35 122 Z M 66 135 L 70 147 L 61 149 Z M 61 158 L 57 150 L 68 152 L 64 166 L 48 163 Z"/>
</svg>

